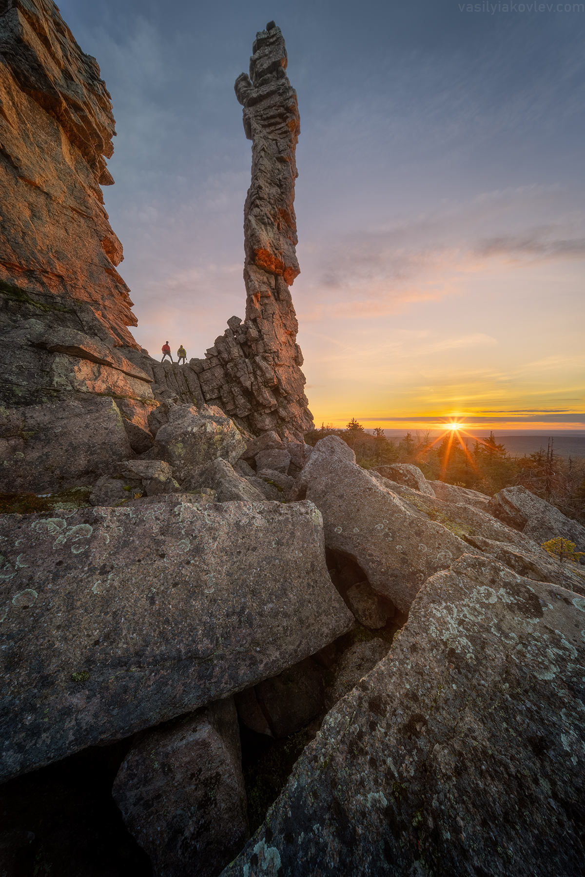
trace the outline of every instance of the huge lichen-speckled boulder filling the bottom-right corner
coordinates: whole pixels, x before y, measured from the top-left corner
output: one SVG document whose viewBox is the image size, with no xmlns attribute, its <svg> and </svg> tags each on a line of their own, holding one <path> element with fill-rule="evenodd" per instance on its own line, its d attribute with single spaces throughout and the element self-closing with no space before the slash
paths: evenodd
<svg viewBox="0 0 585 877">
<path fill-rule="evenodd" d="M 432 576 L 225 877 L 582 873 L 584 611 L 483 557 Z"/>
</svg>

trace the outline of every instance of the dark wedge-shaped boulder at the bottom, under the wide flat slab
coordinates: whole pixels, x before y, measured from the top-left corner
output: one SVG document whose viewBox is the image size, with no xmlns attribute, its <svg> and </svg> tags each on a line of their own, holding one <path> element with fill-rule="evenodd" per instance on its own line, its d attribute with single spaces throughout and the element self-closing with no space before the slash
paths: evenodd
<svg viewBox="0 0 585 877">
<path fill-rule="evenodd" d="M 112 795 L 154 877 L 215 877 L 250 837 L 233 699 L 139 735 Z"/>
</svg>

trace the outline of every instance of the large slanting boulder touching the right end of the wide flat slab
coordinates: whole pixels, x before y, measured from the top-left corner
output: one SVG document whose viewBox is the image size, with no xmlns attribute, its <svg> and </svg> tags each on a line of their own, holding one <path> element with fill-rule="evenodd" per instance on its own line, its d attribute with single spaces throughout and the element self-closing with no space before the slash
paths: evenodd
<svg viewBox="0 0 585 877">
<path fill-rule="evenodd" d="M 327 548 L 357 561 L 372 588 L 407 612 L 424 580 L 449 567 L 467 545 L 408 509 L 354 460 L 337 436 L 320 439 L 296 480 L 296 496 L 304 494 L 321 511 Z"/>
</svg>

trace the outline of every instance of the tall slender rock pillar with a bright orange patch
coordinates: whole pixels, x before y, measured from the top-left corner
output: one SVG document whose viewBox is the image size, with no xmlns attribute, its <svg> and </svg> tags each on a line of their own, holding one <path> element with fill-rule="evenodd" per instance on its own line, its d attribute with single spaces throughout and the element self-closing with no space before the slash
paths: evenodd
<svg viewBox="0 0 585 877">
<path fill-rule="evenodd" d="M 256 34 L 250 75 L 235 83 L 252 140 L 252 182 L 244 207 L 246 324 L 249 360 L 260 386 L 274 379 L 253 404 L 252 431 L 287 426 L 301 436 L 312 426 L 304 396 L 303 355 L 296 345 L 289 285 L 299 274 L 295 245 L 295 150 L 300 132 L 296 91 L 286 75 L 287 52 L 274 22 Z M 257 337 L 254 337 L 257 335 Z M 255 376 L 255 374 L 254 374 Z"/>
</svg>

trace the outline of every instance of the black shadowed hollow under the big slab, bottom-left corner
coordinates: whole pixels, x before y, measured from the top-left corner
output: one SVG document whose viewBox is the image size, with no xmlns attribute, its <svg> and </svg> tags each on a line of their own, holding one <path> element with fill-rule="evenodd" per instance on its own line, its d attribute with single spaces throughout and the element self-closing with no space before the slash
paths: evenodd
<svg viewBox="0 0 585 877">
<path fill-rule="evenodd" d="M 0 786 L 3 877 L 152 877 L 111 796 L 133 737 Z"/>
</svg>

